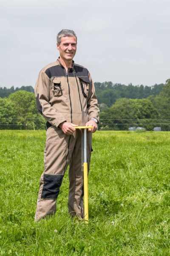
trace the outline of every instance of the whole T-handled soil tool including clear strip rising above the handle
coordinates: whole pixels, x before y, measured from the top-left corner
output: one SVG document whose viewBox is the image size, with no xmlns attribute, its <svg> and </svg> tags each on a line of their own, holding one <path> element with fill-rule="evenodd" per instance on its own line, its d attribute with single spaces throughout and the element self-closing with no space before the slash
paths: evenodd
<svg viewBox="0 0 170 256">
<path fill-rule="evenodd" d="M 84 210 L 85 222 L 88 224 L 88 163 L 87 163 L 87 129 L 93 126 L 85 126 L 85 112 L 82 111 L 82 126 L 74 127 L 82 132 L 82 171 L 84 174 Z"/>
</svg>

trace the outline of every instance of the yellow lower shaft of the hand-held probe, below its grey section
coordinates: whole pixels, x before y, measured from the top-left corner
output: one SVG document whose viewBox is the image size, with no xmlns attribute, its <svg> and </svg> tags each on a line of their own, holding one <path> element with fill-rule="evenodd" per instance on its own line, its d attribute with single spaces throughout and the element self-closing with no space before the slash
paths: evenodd
<svg viewBox="0 0 170 256">
<path fill-rule="evenodd" d="M 85 222 L 88 224 L 88 163 L 83 163 L 84 170 L 84 206 L 85 206 Z"/>
</svg>

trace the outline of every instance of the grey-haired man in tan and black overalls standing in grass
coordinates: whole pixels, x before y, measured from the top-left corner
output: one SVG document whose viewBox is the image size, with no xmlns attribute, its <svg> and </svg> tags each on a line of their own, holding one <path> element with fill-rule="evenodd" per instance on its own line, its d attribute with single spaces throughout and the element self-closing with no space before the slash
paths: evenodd
<svg viewBox="0 0 170 256">
<path fill-rule="evenodd" d="M 59 58 L 44 67 L 35 85 L 35 96 L 40 113 L 47 120 L 44 151 L 44 172 L 40 178 L 35 220 L 54 214 L 63 176 L 69 164 L 68 212 L 79 219 L 83 210 L 83 173 L 81 169 L 81 131 L 88 129 L 88 169 L 91 157 L 92 134 L 97 130 L 99 108 L 94 83 L 88 70 L 74 64 L 77 36 L 73 30 L 63 29 L 57 35 Z"/>
</svg>

